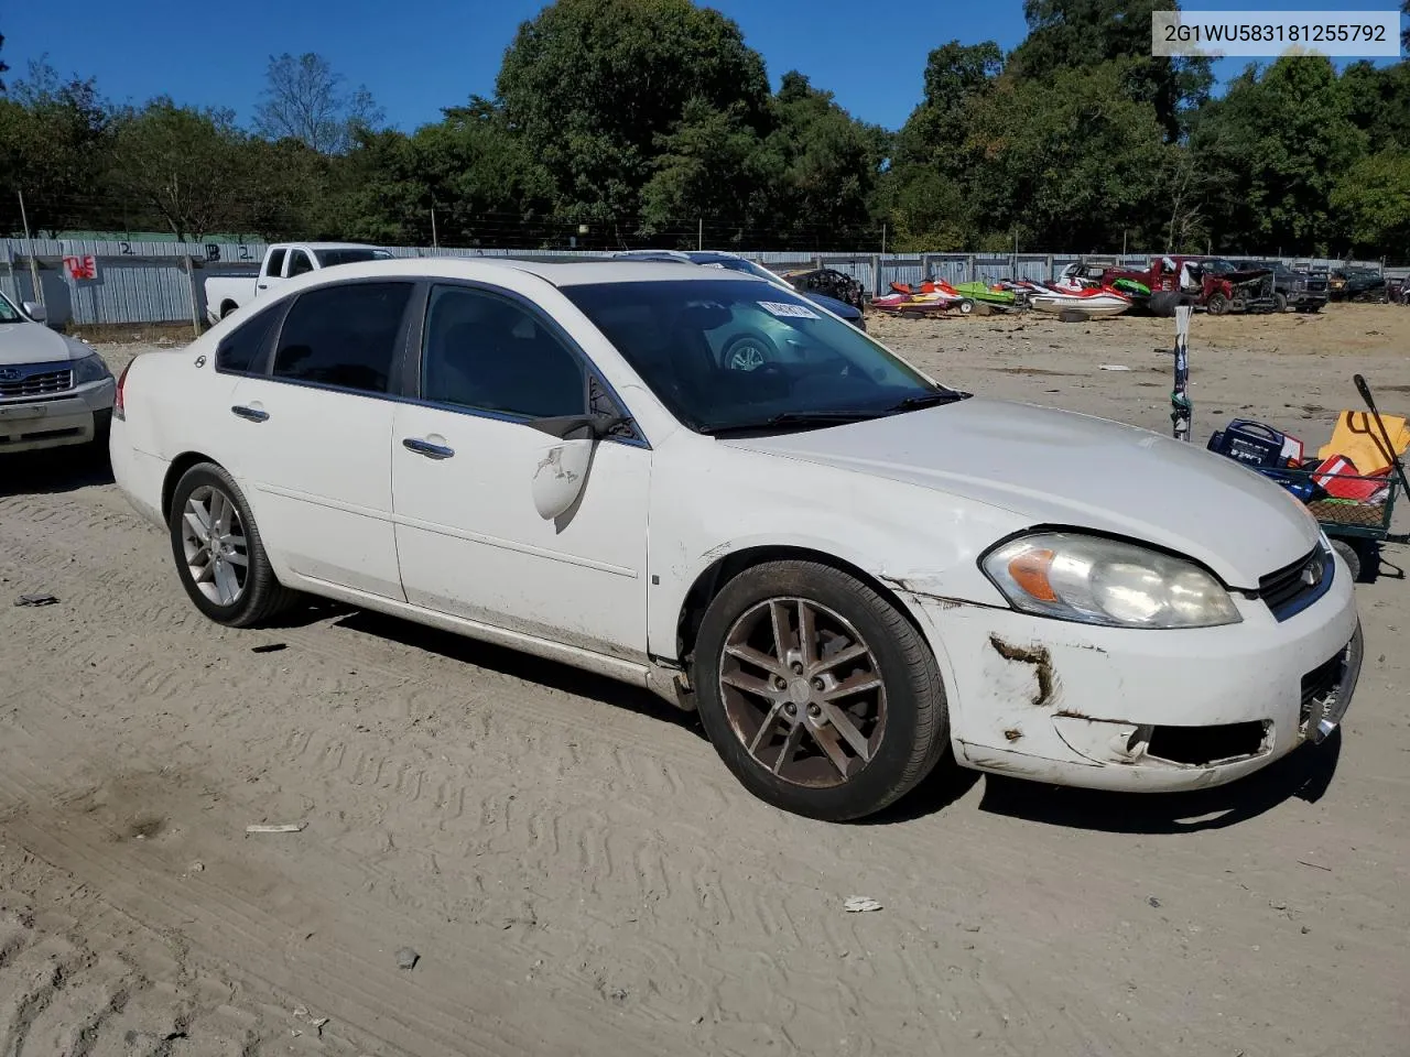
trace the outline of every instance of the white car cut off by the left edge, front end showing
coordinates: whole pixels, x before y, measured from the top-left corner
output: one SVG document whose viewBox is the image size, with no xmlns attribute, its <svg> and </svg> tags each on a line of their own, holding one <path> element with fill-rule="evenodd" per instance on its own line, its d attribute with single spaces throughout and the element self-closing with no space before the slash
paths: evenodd
<svg viewBox="0 0 1410 1057">
<path fill-rule="evenodd" d="M 107 448 L 116 382 L 89 345 L 45 326 L 44 307 L 0 293 L 0 454 Z"/>
</svg>

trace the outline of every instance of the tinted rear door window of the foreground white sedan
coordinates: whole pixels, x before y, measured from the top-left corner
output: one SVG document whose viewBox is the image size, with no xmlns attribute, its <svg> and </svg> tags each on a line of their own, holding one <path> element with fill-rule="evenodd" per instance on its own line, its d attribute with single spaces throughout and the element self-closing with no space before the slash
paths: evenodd
<svg viewBox="0 0 1410 1057">
<path fill-rule="evenodd" d="M 385 393 L 410 283 L 347 283 L 300 295 L 279 331 L 275 378 Z"/>
</svg>

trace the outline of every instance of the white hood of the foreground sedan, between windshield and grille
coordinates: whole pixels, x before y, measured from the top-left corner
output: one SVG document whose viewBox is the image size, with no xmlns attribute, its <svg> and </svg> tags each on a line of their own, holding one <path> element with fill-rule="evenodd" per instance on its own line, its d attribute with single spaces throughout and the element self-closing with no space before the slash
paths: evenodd
<svg viewBox="0 0 1410 1057">
<path fill-rule="evenodd" d="M 1184 554 L 1234 588 L 1292 565 L 1317 523 L 1282 488 L 1187 443 L 1032 404 L 970 397 L 807 433 L 732 438 Z"/>
</svg>

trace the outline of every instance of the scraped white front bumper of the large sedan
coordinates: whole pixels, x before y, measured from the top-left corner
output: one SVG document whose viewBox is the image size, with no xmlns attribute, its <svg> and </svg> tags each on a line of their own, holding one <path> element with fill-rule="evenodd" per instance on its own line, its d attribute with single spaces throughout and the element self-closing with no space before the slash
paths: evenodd
<svg viewBox="0 0 1410 1057">
<path fill-rule="evenodd" d="M 1347 567 L 1283 622 L 1138 631 L 911 595 L 940 660 L 959 762 L 1059 785 L 1220 785 L 1320 740 L 1359 675 Z M 1313 691 L 1317 691 L 1316 693 Z M 1327 693 L 1325 691 L 1331 691 Z"/>
</svg>

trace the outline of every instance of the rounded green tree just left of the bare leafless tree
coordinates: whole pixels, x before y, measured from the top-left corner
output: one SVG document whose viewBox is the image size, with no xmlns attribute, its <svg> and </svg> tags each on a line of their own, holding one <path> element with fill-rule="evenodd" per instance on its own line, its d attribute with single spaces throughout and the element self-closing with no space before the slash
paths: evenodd
<svg viewBox="0 0 1410 1057">
<path fill-rule="evenodd" d="M 169 97 L 124 113 L 113 182 L 152 210 L 178 241 L 199 240 L 238 217 L 244 138 L 228 110 L 195 110 Z"/>
</svg>

